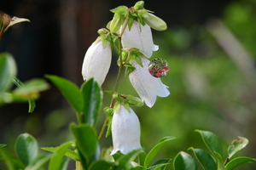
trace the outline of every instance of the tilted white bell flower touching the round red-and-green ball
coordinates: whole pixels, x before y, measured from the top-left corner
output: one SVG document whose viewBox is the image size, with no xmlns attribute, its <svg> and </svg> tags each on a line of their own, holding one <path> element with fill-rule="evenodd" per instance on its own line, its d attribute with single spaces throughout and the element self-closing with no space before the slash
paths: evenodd
<svg viewBox="0 0 256 170">
<path fill-rule="evenodd" d="M 142 61 L 143 67 L 138 65 L 135 60 L 132 61 L 132 65 L 136 67 L 136 70 L 131 72 L 129 78 L 140 98 L 148 107 L 152 107 L 157 96 L 166 97 L 170 92 L 167 89 L 168 87 L 161 82 L 160 78 L 153 77 L 148 72 L 150 61 L 144 57 L 142 57 Z"/>
</svg>

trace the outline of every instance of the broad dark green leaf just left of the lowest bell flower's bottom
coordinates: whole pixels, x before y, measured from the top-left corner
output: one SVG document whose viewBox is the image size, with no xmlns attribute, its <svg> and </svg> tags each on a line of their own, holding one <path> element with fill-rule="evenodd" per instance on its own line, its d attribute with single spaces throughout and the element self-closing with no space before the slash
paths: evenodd
<svg viewBox="0 0 256 170">
<path fill-rule="evenodd" d="M 80 156 L 80 161 L 86 161 L 86 164 L 89 165 L 90 157 L 95 154 L 98 143 L 96 129 L 87 124 L 75 125 L 72 123 L 70 125 L 70 130 L 76 139 L 79 154 L 85 159 L 81 160 Z"/>
</svg>

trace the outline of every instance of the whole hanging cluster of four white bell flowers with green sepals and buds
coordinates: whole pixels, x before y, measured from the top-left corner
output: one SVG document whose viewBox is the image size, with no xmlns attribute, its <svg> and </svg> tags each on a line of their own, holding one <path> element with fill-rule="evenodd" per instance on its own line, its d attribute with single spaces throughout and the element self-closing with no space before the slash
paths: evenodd
<svg viewBox="0 0 256 170">
<path fill-rule="evenodd" d="M 119 61 L 121 61 L 118 62 L 119 66 L 126 67 L 131 85 L 140 99 L 148 107 L 152 107 L 157 96 L 166 97 L 170 94 L 168 87 L 161 82 L 160 78 L 153 77 L 148 71 L 150 63 L 148 59 L 159 48 L 154 45 L 151 28 L 163 31 L 166 30 L 166 23 L 143 8 L 143 2 L 136 3 L 132 8 L 121 6 L 111 11 L 114 16 L 108 24 L 109 31 L 104 30 L 105 33 L 100 33 L 101 36 L 92 43 L 84 56 L 82 66 L 84 80 L 93 77 L 102 85 L 110 67 L 111 49 L 116 48 L 114 41 L 120 39 L 122 48 L 118 50 Z M 117 151 L 126 154 L 141 148 L 139 120 L 129 106 L 127 109 L 124 103 L 115 102 L 118 106 L 113 112 L 111 154 Z"/>
</svg>

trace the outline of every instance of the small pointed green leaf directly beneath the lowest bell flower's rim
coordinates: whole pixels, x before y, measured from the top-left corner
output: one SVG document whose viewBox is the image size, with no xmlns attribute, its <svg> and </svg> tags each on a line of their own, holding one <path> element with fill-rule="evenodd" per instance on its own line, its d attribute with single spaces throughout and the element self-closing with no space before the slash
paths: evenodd
<svg viewBox="0 0 256 170">
<path fill-rule="evenodd" d="M 131 161 L 133 161 L 143 150 L 132 150 L 126 155 L 120 156 L 116 161 L 116 165 L 118 166 L 116 170 L 130 169 L 132 167 Z"/>
</svg>

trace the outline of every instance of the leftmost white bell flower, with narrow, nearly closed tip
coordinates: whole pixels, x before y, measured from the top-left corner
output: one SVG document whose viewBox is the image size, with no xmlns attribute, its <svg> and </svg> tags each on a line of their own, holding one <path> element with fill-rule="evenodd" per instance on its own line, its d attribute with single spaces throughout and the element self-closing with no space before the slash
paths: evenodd
<svg viewBox="0 0 256 170">
<path fill-rule="evenodd" d="M 111 58 L 111 47 L 109 42 L 105 48 L 103 47 L 102 39 L 93 42 L 84 56 L 84 63 L 82 66 L 82 76 L 84 77 L 84 81 L 93 77 L 99 85 L 102 86 L 102 83 L 108 74 Z"/>
</svg>

